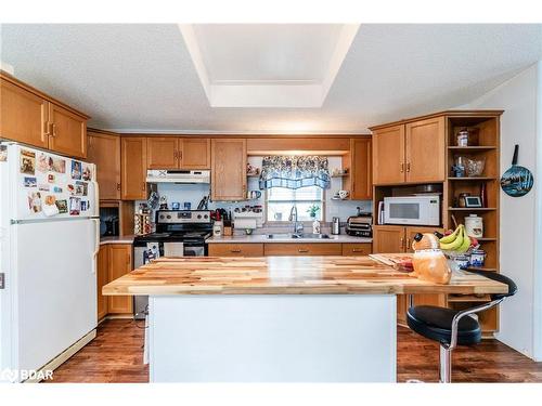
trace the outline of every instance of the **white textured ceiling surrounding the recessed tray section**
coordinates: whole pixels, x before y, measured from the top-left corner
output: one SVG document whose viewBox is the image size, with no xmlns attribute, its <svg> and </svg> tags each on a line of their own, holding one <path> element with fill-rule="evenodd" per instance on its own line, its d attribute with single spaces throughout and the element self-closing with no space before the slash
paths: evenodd
<svg viewBox="0 0 542 406">
<path fill-rule="evenodd" d="M 119 131 L 364 133 L 468 103 L 542 58 L 542 25 L 361 25 L 322 107 L 225 108 L 210 107 L 175 24 L 1 28 L 0 60 L 16 77 Z M 273 63 L 243 77 L 284 78 Z M 318 71 L 299 66 L 304 78 Z"/>
</svg>

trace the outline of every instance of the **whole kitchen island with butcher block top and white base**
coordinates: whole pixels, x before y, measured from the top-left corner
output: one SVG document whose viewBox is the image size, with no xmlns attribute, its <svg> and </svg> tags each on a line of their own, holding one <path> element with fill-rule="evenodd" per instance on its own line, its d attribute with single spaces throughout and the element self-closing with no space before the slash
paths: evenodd
<svg viewBox="0 0 542 406">
<path fill-rule="evenodd" d="M 103 287 L 150 296 L 153 382 L 395 382 L 396 294 L 506 291 L 369 257 L 159 259 Z"/>
</svg>

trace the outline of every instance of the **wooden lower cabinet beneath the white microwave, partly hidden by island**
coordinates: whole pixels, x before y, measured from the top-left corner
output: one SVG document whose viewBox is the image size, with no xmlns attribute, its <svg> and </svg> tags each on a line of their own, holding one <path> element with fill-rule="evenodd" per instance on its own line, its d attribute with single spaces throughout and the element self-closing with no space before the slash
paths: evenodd
<svg viewBox="0 0 542 406">
<path fill-rule="evenodd" d="M 373 227 L 373 250 L 375 253 L 412 252 L 412 243 L 417 233 L 434 233 L 439 227 L 405 227 L 402 225 L 375 225 Z M 444 294 L 414 294 L 414 305 L 428 304 L 446 306 Z M 397 296 L 397 322 L 406 323 L 408 298 L 405 294 Z"/>
</svg>

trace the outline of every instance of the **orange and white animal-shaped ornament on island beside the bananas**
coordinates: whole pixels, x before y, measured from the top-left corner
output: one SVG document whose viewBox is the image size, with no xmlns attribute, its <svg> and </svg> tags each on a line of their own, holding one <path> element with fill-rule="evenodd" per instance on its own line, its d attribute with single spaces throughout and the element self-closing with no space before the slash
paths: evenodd
<svg viewBox="0 0 542 406">
<path fill-rule="evenodd" d="M 414 256 L 412 257 L 414 272 L 411 274 L 412 276 L 434 284 L 448 285 L 450 283 L 452 271 L 440 249 L 437 236 L 429 233 L 418 233 L 414 236 L 412 248 L 414 249 Z"/>
</svg>

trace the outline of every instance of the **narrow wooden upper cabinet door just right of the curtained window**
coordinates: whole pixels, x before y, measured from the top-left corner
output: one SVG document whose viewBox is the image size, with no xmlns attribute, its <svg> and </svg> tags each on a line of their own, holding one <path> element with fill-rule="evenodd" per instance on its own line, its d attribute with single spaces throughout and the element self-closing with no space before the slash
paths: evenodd
<svg viewBox="0 0 542 406">
<path fill-rule="evenodd" d="M 370 200 L 373 198 L 371 139 L 352 139 L 350 153 L 352 155 L 352 189 L 350 198 Z"/>
</svg>

